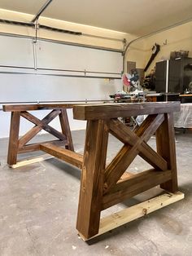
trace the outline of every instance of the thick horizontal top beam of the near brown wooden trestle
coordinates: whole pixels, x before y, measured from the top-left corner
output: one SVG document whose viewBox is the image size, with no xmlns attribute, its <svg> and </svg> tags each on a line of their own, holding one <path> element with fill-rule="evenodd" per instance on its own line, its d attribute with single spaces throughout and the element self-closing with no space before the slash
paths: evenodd
<svg viewBox="0 0 192 256">
<path fill-rule="evenodd" d="M 180 111 L 180 103 L 177 101 L 129 104 L 88 104 L 74 106 L 73 117 L 78 120 L 98 120 L 177 111 Z"/>
</svg>

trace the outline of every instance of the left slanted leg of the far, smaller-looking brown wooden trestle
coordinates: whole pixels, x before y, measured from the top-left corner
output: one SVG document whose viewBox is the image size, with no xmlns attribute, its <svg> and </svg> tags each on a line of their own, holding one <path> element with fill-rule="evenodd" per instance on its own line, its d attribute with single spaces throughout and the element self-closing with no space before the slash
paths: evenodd
<svg viewBox="0 0 192 256">
<path fill-rule="evenodd" d="M 12 166 L 16 164 L 17 152 L 19 144 L 19 132 L 20 132 L 20 112 L 11 112 L 11 125 L 10 125 L 10 135 L 9 135 L 9 147 L 7 164 Z"/>
</svg>

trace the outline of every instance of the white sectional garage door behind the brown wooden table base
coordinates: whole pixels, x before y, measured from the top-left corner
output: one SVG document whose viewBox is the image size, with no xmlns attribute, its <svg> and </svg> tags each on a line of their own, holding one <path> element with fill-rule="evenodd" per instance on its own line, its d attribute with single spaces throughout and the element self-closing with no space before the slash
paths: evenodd
<svg viewBox="0 0 192 256">
<path fill-rule="evenodd" d="M 0 38 L 2 39 L 0 41 L 0 65 L 33 67 L 33 44 L 30 40 L 4 36 L 0 36 Z M 38 42 L 37 67 L 73 68 L 77 70 L 86 68 L 90 71 L 121 72 L 123 63 L 120 53 L 97 51 L 76 46 L 58 45 L 57 47 L 55 43 Z M 24 68 L 0 68 L 0 104 L 110 99 L 109 95 L 121 90 L 121 81 L 117 79 L 63 77 L 63 73 L 60 72 L 50 71 L 48 73 L 45 71 L 28 71 Z M 102 76 L 103 74 L 98 73 L 96 75 Z M 42 118 L 43 114 L 46 113 L 46 111 L 42 111 L 37 112 L 36 115 Z M 68 117 L 72 130 L 85 129 L 85 122 L 74 121 L 70 110 Z M 10 113 L 2 113 L 1 111 L 0 119 L 0 137 L 7 137 L 9 135 Z M 55 126 L 55 129 L 60 130 L 58 120 L 52 121 L 52 125 Z M 30 127 L 28 121 L 22 120 L 20 135 L 23 135 Z"/>
</svg>

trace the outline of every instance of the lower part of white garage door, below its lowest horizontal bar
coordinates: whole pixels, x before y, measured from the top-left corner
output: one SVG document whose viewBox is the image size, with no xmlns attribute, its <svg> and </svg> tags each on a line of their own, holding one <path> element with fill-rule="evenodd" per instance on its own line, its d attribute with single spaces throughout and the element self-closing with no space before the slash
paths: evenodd
<svg viewBox="0 0 192 256">
<path fill-rule="evenodd" d="M 108 95 L 121 89 L 118 80 L 74 78 L 74 77 L 43 77 L 34 75 L 6 75 L 0 74 L 2 93 L 0 101 L 13 99 L 12 88 L 18 86 L 14 91 L 15 101 L 37 101 L 37 100 L 85 100 L 85 99 L 110 99 Z M 33 82 L 33 85 L 32 85 Z M 36 91 L 36 93 L 34 93 Z M 37 93 L 38 91 L 38 93 Z M 32 98 L 33 95 L 33 98 Z M 3 100 L 2 100 L 3 99 Z M 38 118 L 43 118 L 47 111 L 32 112 Z M 11 113 L 0 111 L 1 129 L 0 137 L 8 137 Z M 72 130 L 85 129 L 85 121 L 76 121 L 72 118 L 72 111 L 68 111 L 68 118 Z M 59 121 L 55 119 L 51 123 L 55 129 L 60 130 Z M 20 135 L 32 127 L 28 121 L 22 120 Z"/>
</svg>

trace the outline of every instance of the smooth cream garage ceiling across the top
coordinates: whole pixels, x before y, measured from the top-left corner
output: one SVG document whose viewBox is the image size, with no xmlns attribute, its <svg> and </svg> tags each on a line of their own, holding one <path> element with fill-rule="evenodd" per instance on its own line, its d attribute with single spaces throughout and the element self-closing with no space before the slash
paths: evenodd
<svg viewBox="0 0 192 256">
<path fill-rule="evenodd" d="M 1 0 L 0 8 L 36 15 L 46 2 Z M 142 36 L 192 19 L 192 1 L 53 0 L 42 16 Z"/>
</svg>

